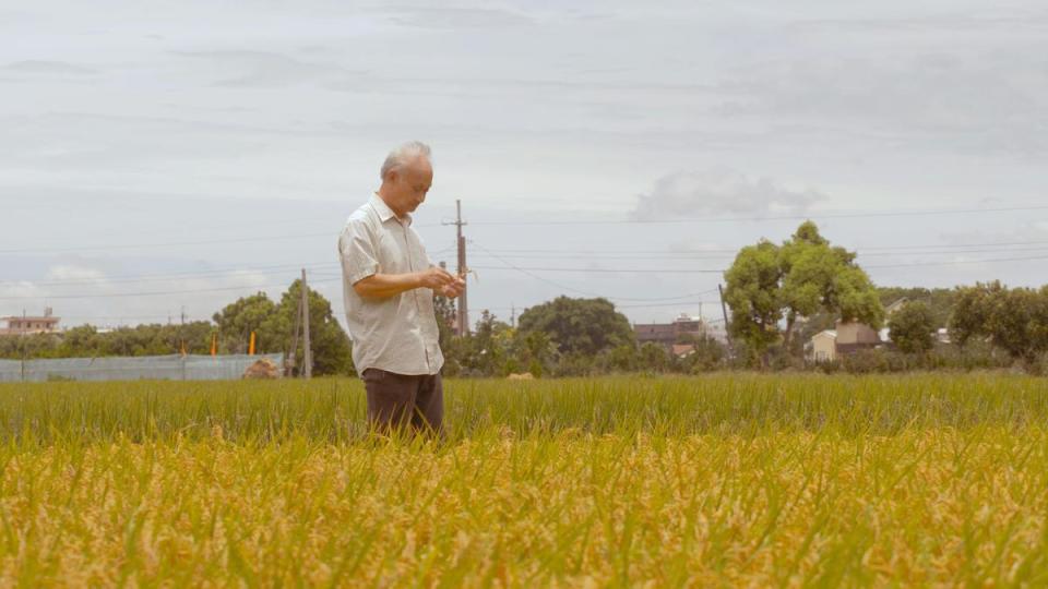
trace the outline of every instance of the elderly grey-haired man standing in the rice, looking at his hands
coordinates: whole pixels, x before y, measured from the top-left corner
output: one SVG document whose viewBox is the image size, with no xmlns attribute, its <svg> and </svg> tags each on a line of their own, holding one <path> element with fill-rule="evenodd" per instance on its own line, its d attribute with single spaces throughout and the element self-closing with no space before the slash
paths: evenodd
<svg viewBox="0 0 1048 589">
<path fill-rule="evenodd" d="M 433 293 L 458 297 L 465 280 L 436 266 L 412 228 L 412 213 L 433 181 L 429 147 L 402 145 L 381 175 L 379 191 L 349 216 L 338 238 L 353 362 L 372 428 L 440 433 L 444 357 Z"/>
</svg>

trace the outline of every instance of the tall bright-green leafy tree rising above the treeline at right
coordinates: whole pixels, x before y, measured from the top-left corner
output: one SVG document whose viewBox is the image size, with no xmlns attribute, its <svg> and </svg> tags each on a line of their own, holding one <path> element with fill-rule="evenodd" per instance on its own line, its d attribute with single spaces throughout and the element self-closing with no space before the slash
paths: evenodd
<svg viewBox="0 0 1048 589">
<path fill-rule="evenodd" d="M 765 361 L 767 348 L 779 338 L 789 353 L 797 324 L 821 311 L 874 329 L 884 321 L 877 289 L 855 263 L 855 254 L 831 247 L 811 221 L 801 224 L 782 247 L 762 240 L 742 248 L 725 279 L 730 333 Z M 784 318 L 785 329 L 779 330 Z"/>
</svg>

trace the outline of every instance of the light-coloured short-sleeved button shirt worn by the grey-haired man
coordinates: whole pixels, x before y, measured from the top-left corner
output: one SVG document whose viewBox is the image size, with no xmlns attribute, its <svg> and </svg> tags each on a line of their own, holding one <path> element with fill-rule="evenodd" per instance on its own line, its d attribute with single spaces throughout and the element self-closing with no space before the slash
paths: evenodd
<svg viewBox="0 0 1048 589">
<path fill-rule="evenodd" d="M 397 374 L 437 374 L 440 351 L 433 291 L 360 297 L 353 285 L 374 274 L 408 274 L 432 265 L 412 217 L 398 219 L 379 197 L 356 209 L 338 237 L 346 323 L 357 373 L 377 368 Z"/>
</svg>

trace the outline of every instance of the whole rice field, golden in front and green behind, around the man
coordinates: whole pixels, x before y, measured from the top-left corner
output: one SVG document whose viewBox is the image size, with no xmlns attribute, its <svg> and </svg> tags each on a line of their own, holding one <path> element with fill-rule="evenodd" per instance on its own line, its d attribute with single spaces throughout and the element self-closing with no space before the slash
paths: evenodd
<svg viewBox="0 0 1048 589">
<path fill-rule="evenodd" d="M 0 585 L 1048 584 L 1048 381 L 0 386 Z"/>
</svg>

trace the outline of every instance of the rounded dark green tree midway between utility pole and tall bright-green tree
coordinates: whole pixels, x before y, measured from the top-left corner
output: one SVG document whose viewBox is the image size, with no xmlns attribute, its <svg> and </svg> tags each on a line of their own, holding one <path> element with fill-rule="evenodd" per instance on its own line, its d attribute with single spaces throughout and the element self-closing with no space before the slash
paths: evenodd
<svg viewBox="0 0 1048 589">
<path fill-rule="evenodd" d="M 562 354 L 596 356 L 635 341 L 630 321 L 607 299 L 558 297 L 524 311 L 519 330 L 547 334 Z"/>
</svg>

